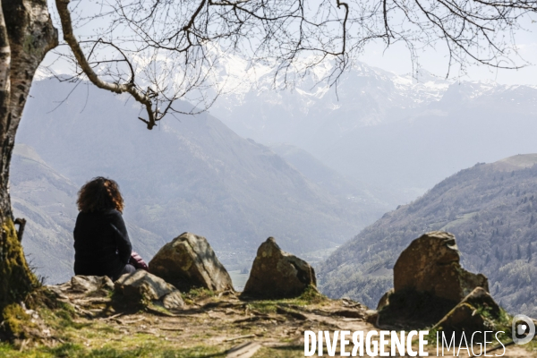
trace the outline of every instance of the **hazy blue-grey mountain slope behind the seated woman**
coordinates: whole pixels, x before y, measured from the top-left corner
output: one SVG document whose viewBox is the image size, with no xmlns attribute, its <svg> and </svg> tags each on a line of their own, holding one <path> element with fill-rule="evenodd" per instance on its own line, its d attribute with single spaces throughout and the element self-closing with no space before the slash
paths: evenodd
<svg viewBox="0 0 537 358">
<path fill-rule="evenodd" d="M 320 162 L 303 175 L 207 113 L 169 115 L 149 132 L 126 97 L 73 86 L 34 82 L 12 167 L 13 206 L 32 221 L 24 247 L 54 282 L 65 275 L 53 271 L 71 265 L 76 192 L 97 175 L 120 184 L 135 250 L 148 260 L 191 231 L 206 236 L 229 269 L 249 268 L 268 236 L 318 261 L 388 208 L 342 177 L 319 180 L 330 171 Z"/>
</svg>

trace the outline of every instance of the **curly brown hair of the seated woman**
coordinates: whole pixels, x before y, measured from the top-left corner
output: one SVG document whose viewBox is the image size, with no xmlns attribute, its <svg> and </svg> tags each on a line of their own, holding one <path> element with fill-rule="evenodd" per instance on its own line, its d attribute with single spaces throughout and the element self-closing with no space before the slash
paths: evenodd
<svg viewBox="0 0 537 358">
<path fill-rule="evenodd" d="M 112 179 L 98 176 L 82 185 L 76 200 L 82 212 L 95 212 L 116 209 L 123 213 L 124 200 L 119 192 L 119 185 Z"/>
</svg>

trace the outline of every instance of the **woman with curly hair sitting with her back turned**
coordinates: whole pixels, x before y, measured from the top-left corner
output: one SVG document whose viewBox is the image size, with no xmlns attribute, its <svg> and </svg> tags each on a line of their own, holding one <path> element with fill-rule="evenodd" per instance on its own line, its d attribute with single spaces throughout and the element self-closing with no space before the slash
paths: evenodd
<svg viewBox="0 0 537 358">
<path fill-rule="evenodd" d="M 145 262 L 132 252 L 122 212 L 124 200 L 115 181 L 98 176 L 85 183 L 77 200 L 74 226 L 74 274 L 116 280 Z M 132 255 L 133 254 L 133 255 Z M 141 263 L 139 262 L 141 261 Z M 146 266 L 147 268 L 147 266 Z"/>
</svg>

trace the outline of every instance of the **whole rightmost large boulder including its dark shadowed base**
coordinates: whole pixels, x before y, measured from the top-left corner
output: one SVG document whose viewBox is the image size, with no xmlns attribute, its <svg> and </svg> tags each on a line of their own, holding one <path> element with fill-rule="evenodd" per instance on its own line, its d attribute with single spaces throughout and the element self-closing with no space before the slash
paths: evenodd
<svg viewBox="0 0 537 358">
<path fill-rule="evenodd" d="M 379 325 L 424 328 L 441 320 L 457 304 L 495 307 L 487 277 L 466 271 L 453 234 L 433 231 L 415 239 L 394 266 L 394 289 L 380 299 Z M 467 300 L 465 302 L 464 300 Z M 467 307 L 461 304 L 456 317 Z"/>
</svg>

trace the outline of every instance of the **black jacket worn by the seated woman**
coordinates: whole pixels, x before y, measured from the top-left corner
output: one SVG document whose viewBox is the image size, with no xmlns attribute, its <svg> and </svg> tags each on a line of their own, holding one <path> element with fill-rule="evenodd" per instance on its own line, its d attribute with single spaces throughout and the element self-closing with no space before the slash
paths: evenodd
<svg viewBox="0 0 537 358">
<path fill-rule="evenodd" d="M 75 275 L 115 279 L 131 258 L 129 234 L 115 209 L 80 212 L 73 235 Z"/>
</svg>

